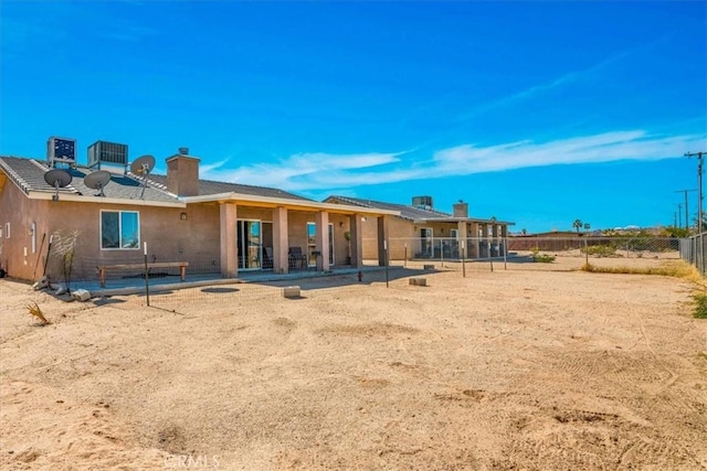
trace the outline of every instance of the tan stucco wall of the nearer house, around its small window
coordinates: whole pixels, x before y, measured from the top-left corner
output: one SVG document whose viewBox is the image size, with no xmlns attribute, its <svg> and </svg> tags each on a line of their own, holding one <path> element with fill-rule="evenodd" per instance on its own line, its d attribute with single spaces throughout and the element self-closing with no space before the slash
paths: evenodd
<svg viewBox="0 0 707 471">
<path fill-rule="evenodd" d="M 131 204 L 101 204 L 101 201 L 71 202 L 31 200 L 8 179 L 0 190 L 0 224 L 3 237 L 0 244 L 0 266 L 12 277 L 35 280 L 42 276 L 49 239 L 68 240 L 75 234 L 72 280 L 97 279 L 99 265 L 140 264 L 145 260 L 147 243 L 149 261 L 188 261 L 188 272 L 218 272 L 220 259 L 220 208 L 218 203 L 190 204 L 187 207 L 155 207 Z M 140 246 L 135 249 L 101 248 L 101 211 L 137 211 L 139 213 Z M 180 217 L 186 213 L 186 220 Z M 334 228 L 334 257 L 344 265 L 348 257 L 345 233 L 349 216 L 329 214 Z M 238 206 L 239 220 L 273 221 L 273 210 Z M 373 218 L 374 220 L 374 218 Z M 316 212 L 288 211 L 288 245 L 307 250 L 307 223 L 315 223 Z M 32 251 L 29 229 L 36 223 L 36 246 Z M 6 223 L 10 237 L 6 237 Z M 44 244 L 41 245 L 44 235 Z M 235 243 L 235 240 L 234 240 Z M 272 234 L 263 232 L 263 245 L 272 246 Z M 27 247 L 27 257 L 24 256 Z M 376 247 L 373 246 L 374 250 Z M 35 269 L 36 267 L 36 269 Z M 63 259 L 54 250 L 48 264 L 53 280 L 64 280 Z"/>
</svg>

